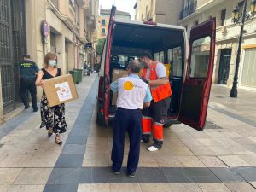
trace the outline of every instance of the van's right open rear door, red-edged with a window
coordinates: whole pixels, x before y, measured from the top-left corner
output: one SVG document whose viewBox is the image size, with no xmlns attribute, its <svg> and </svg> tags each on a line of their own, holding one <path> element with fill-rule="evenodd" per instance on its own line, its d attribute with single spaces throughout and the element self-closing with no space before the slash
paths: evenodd
<svg viewBox="0 0 256 192">
<path fill-rule="evenodd" d="M 216 22 L 207 20 L 191 29 L 189 63 L 183 82 L 178 120 L 202 131 L 212 85 Z"/>
</svg>

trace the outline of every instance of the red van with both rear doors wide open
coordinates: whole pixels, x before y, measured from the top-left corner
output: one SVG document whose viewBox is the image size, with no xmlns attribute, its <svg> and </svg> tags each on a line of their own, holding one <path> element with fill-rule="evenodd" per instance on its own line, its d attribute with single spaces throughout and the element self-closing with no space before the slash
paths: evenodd
<svg viewBox="0 0 256 192">
<path fill-rule="evenodd" d="M 113 6 L 108 36 L 102 52 L 97 95 L 97 124 L 108 125 L 116 106 L 111 92 L 113 68 L 124 69 L 131 59 L 150 51 L 155 61 L 171 64 L 171 103 L 166 125 L 183 123 L 202 131 L 212 84 L 215 49 L 215 19 L 191 29 L 189 40 L 183 26 L 150 21 L 114 20 Z"/>
</svg>

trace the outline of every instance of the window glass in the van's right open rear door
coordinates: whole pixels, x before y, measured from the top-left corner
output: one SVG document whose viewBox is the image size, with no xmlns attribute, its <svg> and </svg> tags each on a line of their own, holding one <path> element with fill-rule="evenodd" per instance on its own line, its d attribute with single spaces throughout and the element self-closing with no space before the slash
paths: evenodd
<svg viewBox="0 0 256 192">
<path fill-rule="evenodd" d="M 211 38 L 200 38 L 193 42 L 190 58 L 189 77 L 206 78 L 210 56 Z"/>
</svg>

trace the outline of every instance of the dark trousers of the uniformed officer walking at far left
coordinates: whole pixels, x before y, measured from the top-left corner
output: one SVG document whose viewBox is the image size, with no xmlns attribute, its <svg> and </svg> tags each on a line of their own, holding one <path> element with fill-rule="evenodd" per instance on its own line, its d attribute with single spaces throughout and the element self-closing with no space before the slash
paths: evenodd
<svg viewBox="0 0 256 192">
<path fill-rule="evenodd" d="M 35 85 L 35 79 L 20 79 L 20 96 L 25 107 L 29 106 L 27 90 L 32 97 L 33 109 L 38 109 L 37 106 L 37 88 Z"/>
</svg>

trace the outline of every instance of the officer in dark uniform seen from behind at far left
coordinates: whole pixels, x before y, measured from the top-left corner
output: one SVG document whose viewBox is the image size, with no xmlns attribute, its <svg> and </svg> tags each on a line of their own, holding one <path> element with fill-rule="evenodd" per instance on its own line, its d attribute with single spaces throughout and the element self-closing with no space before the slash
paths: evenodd
<svg viewBox="0 0 256 192">
<path fill-rule="evenodd" d="M 32 107 L 34 112 L 38 111 L 37 88 L 35 85 L 36 74 L 38 71 L 38 65 L 30 59 L 30 55 L 23 55 L 23 61 L 20 62 L 18 67 L 18 74 L 20 79 L 20 96 L 25 109 L 29 108 L 29 101 L 27 98 L 27 90 L 29 90 L 32 98 Z"/>
</svg>

